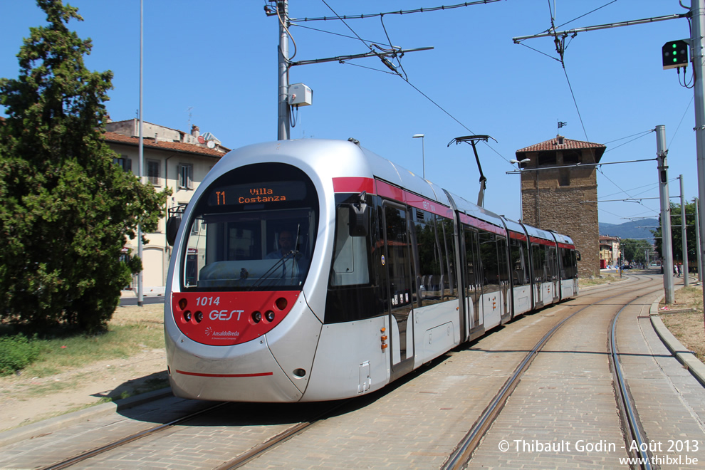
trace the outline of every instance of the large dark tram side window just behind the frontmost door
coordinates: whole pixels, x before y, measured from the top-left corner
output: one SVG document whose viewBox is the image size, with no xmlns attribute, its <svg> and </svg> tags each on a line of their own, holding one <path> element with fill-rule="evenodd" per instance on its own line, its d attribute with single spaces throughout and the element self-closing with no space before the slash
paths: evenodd
<svg viewBox="0 0 705 470">
<path fill-rule="evenodd" d="M 413 212 L 416 304 L 429 305 L 457 297 L 453 221 L 421 209 L 413 209 Z"/>
</svg>

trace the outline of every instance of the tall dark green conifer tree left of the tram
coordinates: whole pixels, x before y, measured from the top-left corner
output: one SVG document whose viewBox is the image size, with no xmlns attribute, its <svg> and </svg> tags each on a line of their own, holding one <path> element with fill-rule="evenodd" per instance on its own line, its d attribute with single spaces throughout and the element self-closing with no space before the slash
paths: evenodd
<svg viewBox="0 0 705 470">
<path fill-rule="evenodd" d="M 0 79 L 0 317 L 35 329 L 100 330 L 141 269 L 120 262 L 138 224 L 153 231 L 167 194 L 113 164 L 103 142 L 113 73 L 90 72 L 90 39 L 68 30 L 78 9 L 38 0 L 17 79 Z"/>
</svg>

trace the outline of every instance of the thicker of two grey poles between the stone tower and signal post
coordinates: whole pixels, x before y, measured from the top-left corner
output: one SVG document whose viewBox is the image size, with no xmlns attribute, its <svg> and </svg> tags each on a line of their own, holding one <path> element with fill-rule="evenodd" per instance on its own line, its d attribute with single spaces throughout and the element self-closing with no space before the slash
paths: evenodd
<svg viewBox="0 0 705 470">
<path fill-rule="evenodd" d="M 666 161 L 666 126 L 656 126 L 656 155 L 659 161 L 659 196 L 661 197 L 661 254 L 664 258 L 664 291 L 667 304 L 673 303 L 673 251 L 671 248 L 671 202 L 668 196 Z"/>
</svg>

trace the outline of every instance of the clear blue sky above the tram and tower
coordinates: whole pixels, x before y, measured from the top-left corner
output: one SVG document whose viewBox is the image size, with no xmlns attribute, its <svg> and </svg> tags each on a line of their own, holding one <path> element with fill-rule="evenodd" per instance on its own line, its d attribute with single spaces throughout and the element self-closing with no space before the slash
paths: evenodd
<svg viewBox="0 0 705 470">
<path fill-rule="evenodd" d="M 506 174 L 514 169 L 508 160 L 518 149 L 555 137 L 558 121 L 568 122 L 560 133 L 569 139 L 607 145 L 602 162 L 656 157 L 656 135 L 648 131 L 665 125 L 670 193 L 679 195 L 674 178 L 684 174 L 685 196 L 692 199 L 697 195 L 693 92 L 679 84 L 683 74 L 662 70 L 661 61 L 665 42 L 690 36 L 686 19 L 578 33 L 567 41 L 565 71 L 548 57 L 556 57 L 550 38 L 524 42 L 541 53 L 512 41 L 545 31 L 552 11 L 559 31 L 686 12 L 677 0 L 610 1 L 503 0 L 390 14 L 383 23 L 379 17 L 349 19 L 347 26 L 335 20 L 297 21 L 299 26 L 291 28 L 294 61 L 367 52 L 350 28 L 367 41 L 388 43 L 388 34 L 395 46 L 434 50 L 404 55 L 401 65 L 408 83 L 385 73 L 377 58 L 352 62 L 357 66 L 333 62 L 293 67 L 290 82 L 313 89 L 313 106 L 301 108 L 291 137 L 355 137 L 362 146 L 422 174 L 422 142 L 412 135 L 423 133 L 427 179 L 474 201 L 479 174 L 472 149 L 447 144 L 462 135 L 491 135 L 497 142 L 478 147 L 488 179 L 485 207 L 518 219 L 519 176 Z M 110 117 L 135 117 L 140 2 L 70 3 L 85 20 L 72 21 L 70 27 L 81 38 L 93 40 L 88 68 L 115 74 L 107 103 Z M 341 16 L 350 16 L 461 2 L 326 3 Z M 265 4 L 145 0 L 145 120 L 180 130 L 190 130 L 190 122 L 231 148 L 276 140 L 278 21 L 265 15 Z M 45 16 L 28 0 L 5 1 L 2 11 L 6 21 L 0 31 L 0 77 L 16 78 L 22 39 L 28 28 L 43 24 Z M 334 16 L 321 0 L 291 0 L 289 14 L 294 19 Z M 686 77 L 691 79 L 691 68 Z M 600 202 L 600 221 L 621 224 L 632 217 L 657 216 L 658 199 L 648 199 L 659 195 L 656 166 L 640 162 L 600 167 L 600 201 L 642 198 Z"/>
</svg>

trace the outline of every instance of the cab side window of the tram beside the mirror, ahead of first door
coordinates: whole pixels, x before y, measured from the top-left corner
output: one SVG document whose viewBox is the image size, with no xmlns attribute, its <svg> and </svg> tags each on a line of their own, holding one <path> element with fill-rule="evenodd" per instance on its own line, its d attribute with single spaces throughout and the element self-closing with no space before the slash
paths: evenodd
<svg viewBox="0 0 705 470">
<path fill-rule="evenodd" d="M 367 237 L 350 236 L 349 226 L 348 206 L 340 204 L 336 211 L 331 286 L 359 286 L 370 283 Z"/>
</svg>

